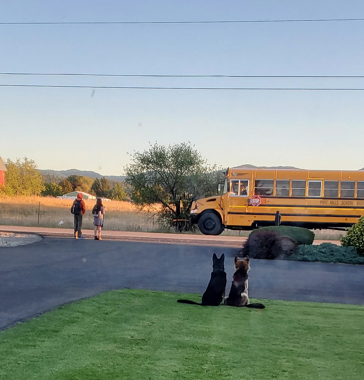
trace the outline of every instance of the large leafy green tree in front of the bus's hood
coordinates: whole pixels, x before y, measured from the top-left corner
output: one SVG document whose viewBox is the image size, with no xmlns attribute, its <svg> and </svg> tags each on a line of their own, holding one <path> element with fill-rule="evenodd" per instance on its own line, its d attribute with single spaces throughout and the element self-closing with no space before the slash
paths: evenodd
<svg viewBox="0 0 364 380">
<path fill-rule="evenodd" d="M 161 204 L 158 222 L 164 226 L 172 226 L 173 219 L 189 218 L 185 192 L 198 198 L 214 195 L 222 175 L 216 165 L 207 165 L 190 142 L 168 147 L 155 143 L 149 150 L 135 152 L 131 160 L 125 167 L 131 198 L 139 207 Z"/>
</svg>

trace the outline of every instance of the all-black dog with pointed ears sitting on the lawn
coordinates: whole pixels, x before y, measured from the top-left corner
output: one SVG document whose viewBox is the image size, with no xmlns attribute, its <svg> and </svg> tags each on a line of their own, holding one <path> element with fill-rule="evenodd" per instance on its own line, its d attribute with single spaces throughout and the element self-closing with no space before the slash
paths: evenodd
<svg viewBox="0 0 364 380">
<path fill-rule="evenodd" d="M 225 296 L 226 273 L 224 268 L 225 255 L 222 254 L 217 258 L 216 254 L 212 255 L 212 272 L 209 285 L 202 295 L 201 303 L 190 301 L 189 299 L 178 299 L 177 302 L 182 304 L 192 304 L 201 306 L 219 306 Z"/>
</svg>

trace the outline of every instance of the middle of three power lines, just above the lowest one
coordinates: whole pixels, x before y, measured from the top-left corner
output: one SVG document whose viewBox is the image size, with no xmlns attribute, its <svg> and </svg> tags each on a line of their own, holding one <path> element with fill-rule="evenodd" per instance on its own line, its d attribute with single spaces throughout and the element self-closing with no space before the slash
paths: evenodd
<svg viewBox="0 0 364 380">
<path fill-rule="evenodd" d="M 364 78 L 362 75 L 146 75 L 146 74 L 85 74 L 85 73 L 0 73 L 0 75 L 35 76 L 113 76 L 143 78 Z"/>
</svg>

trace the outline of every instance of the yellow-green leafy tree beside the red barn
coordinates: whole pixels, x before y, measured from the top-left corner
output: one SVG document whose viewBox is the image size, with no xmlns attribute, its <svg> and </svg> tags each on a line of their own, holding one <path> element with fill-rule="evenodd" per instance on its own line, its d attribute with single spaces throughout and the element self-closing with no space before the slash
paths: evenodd
<svg viewBox="0 0 364 380">
<path fill-rule="evenodd" d="M 15 162 L 6 161 L 5 186 L 3 194 L 9 196 L 36 195 L 44 190 L 44 184 L 40 171 L 37 170 L 35 161 L 24 157 Z"/>
</svg>

